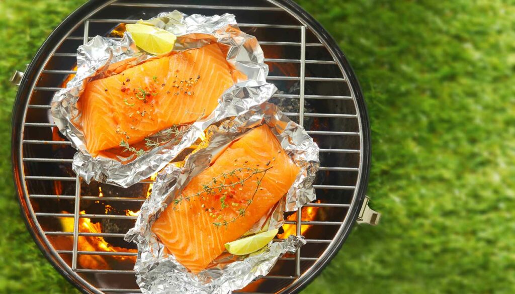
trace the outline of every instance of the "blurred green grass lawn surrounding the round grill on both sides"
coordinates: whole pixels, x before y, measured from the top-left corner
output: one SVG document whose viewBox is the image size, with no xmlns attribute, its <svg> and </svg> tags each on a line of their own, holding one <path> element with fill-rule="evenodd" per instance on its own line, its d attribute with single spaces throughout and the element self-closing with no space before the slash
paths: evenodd
<svg viewBox="0 0 515 294">
<path fill-rule="evenodd" d="M 19 216 L 7 79 L 81 2 L 0 1 L 0 292 L 75 292 Z M 361 82 L 368 195 L 383 213 L 380 226 L 355 228 L 304 293 L 515 292 L 515 4 L 299 2 Z"/>
</svg>

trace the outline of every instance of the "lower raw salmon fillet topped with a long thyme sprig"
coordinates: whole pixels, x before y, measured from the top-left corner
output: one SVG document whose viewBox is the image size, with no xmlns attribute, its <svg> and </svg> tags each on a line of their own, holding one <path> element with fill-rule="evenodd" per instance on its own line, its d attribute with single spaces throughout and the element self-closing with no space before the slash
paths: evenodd
<svg viewBox="0 0 515 294">
<path fill-rule="evenodd" d="M 225 180 L 222 177 L 248 167 L 269 169 L 254 175 L 249 171 L 236 172 L 235 176 L 227 176 Z M 152 232 L 182 265 L 194 273 L 200 272 L 224 252 L 226 243 L 245 234 L 286 194 L 299 170 L 268 126 L 255 128 L 233 142 L 210 167 L 187 184 L 153 224 Z M 245 179 L 249 175 L 250 180 L 244 181 L 243 185 L 214 188 L 211 194 L 204 192 L 204 185 L 219 186 L 222 181 L 230 185 L 238 182 L 237 177 Z M 212 184 L 213 178 L 218 178 L 216 184 Z M 199 192 L 202 193 L 198 197 L 185 200 Z M 177 199 L 181 200 L 177 202 Z M 222 202 L 227 207 L 222 208 Z M 245 207 L 247 210 L 241 215 L 241 209 Z M 223 220 L 234 221 L 227 226 L 214 224 Z"/>
</svg>

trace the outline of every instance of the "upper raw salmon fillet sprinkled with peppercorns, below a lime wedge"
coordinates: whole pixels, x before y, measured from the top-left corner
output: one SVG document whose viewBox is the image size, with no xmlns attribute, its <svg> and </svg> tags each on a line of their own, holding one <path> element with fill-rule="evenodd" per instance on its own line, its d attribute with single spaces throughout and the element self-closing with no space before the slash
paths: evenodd
<svg viewBox="0 0 515 294">
<path fill-rule="evenodd" d="M 79 99 L 91 154 L 208 116 L 234 84 L 218 45 L 151 60 L 89 82 Z"/>
</svg>

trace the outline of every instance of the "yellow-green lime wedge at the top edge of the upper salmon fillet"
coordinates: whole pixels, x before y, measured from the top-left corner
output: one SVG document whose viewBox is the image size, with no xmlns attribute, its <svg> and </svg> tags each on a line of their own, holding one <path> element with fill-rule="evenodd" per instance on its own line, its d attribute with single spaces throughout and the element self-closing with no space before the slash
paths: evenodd
<svg viewBox="0 0 515 294">
<path fill-rule="evenodd" d="M 138 47 L 153 55 L 168 53 L 177 40 L 175 34 L 145 24 L 128 24 L 125 29 L 131 33 Z"/>
</svg>

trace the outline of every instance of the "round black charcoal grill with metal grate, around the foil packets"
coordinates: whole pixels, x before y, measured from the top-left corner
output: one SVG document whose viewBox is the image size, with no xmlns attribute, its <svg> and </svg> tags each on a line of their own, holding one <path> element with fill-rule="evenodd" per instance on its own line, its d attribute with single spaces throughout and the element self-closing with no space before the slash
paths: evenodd
<svg viewBox="0 0 515 294">
<path fill-rule="evenodd" d="M 370 130 L 357 79 L 328 32 L 289 0 L 90 1 L 68 16 L 25 73 L 13 76 L 20 86 L 12 119 L 13 173 L 27 227 L 48 260 L 81 291 L 140 292 L 132 271 L 136 253 L 123 236 L 136 218 L 126 209 L 138 210 L 151 180 L 129 189 L 82 182 L 71 171 L 75 151 L 56 132 L 49 103 L 75 73 L 77 46 L 97 34 L 107 36 L 119 23 L 174 9 L 235 14 L 241 29 L 256 36 L 265 52 L 268 80 L 279 88 L 272 101 L 321 148 L 315 185 L 319 203 L 306 204 L 286 221 L 307 244 L 239 291 L 297 292 L 330 262 L 356 220 L 374 224 L 379 214 L 368 208 L 365 196 Z M 84 230 L 86 220 L 102 230 Z M 86 246 L 100 239 L 113 247 Z"/>
</svg>

